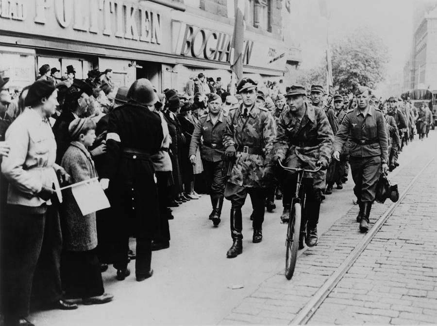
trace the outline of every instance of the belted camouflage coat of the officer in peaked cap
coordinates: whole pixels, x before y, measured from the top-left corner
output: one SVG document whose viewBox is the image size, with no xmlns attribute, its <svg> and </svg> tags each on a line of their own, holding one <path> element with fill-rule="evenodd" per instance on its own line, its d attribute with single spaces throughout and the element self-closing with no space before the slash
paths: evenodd
<svg viewBox="0 0 437 326">
<path fill-rule="evenodd" d="M 245 187 L 268 187 L 273 182 L 271 150 L 276 138 L 276 124 L 268 109 L 254 104 L 248 116 L 243 114 L 243 104 L 231 109 L 223 135 L 225 148 L 235 146 L 236 160 L 228 182 Z M 249 154 L 238 148 L 258 148 L 263 154 Z"/>
</svg>

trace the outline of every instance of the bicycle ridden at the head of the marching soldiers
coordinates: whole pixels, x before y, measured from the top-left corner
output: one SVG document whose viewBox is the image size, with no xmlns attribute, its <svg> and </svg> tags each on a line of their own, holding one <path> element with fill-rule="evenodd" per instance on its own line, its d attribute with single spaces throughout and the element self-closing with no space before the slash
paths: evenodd
<svg viewBox="0 0 437 326">
<path fill-rule="evenodd" d="M 296 267 L 297 252 L 299 249 L 299 234 L 301 232 L 301 220 L 303 209 L 305 208 L 305 191 L 302 184 L 303 174 L 315 173 L 320 171 L 320 167 L 316 170 L 305 170 L 302 168 L 286 167 L 278 161 L 279 166 L 288 172 L 297 173 L 296 193 L 291 199 L 290 217 L 288 218 L 287 236 L 286 236 L 286 271 L 287 280 L 293 277 L 294 268 Z"/>
</svg>

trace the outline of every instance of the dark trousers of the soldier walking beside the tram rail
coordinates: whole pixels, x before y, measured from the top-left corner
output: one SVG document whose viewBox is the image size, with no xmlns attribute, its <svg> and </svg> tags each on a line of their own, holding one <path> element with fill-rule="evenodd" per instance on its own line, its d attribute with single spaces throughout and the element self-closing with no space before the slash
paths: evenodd
<svg viewBox="0 0 437 326">
<path fill-rule="evenodd" d="M 373 202 L 375 200 L 376 184 L 381 170 L 381 157 L 353 157 L 351 163 L 352 178 L 355 182 L 353 193 L 358 201 Z"/>
</svg>

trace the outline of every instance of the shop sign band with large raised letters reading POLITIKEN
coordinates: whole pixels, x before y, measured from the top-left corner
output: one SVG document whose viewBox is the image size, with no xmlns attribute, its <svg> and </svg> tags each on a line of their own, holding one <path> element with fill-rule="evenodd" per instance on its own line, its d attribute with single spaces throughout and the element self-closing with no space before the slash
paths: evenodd
<svg viewBox="0 0 437 326">
<path fill-rule="evenodd" d="M 147 48 L 169 34 L 162 10 L 134 0 L 0 0 L 0 30 Z"/>
</svg>

